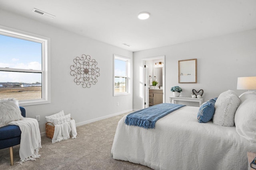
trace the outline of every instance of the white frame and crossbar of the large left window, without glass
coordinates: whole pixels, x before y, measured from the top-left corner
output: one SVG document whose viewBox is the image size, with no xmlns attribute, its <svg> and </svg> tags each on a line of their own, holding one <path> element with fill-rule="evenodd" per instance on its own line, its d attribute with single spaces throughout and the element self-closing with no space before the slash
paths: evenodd
<svg viewBox="0 0 256 170">
<path fill-rule="evenodd" d="M 4 27 L 1 25 L 0 34 L 42 44 L 42 70 L 0 67 L 0 71 L 42 73 L 42 99 L 20 100 L 19 105 L 30 106 L 50 103 L 50 38 Z"/>
</svg>

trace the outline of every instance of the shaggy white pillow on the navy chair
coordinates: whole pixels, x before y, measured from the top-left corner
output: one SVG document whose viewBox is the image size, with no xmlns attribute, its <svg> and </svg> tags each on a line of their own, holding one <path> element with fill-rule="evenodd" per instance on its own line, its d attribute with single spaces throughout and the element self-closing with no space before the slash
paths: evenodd
<svg viewBox="0 0 256 170">
<path fill-rule="evenodd" d="M 8 125 L 11 121 L 23 119 L 18 101 L 10 99 L 0 100 L 0 127 Z"/>
</svg>

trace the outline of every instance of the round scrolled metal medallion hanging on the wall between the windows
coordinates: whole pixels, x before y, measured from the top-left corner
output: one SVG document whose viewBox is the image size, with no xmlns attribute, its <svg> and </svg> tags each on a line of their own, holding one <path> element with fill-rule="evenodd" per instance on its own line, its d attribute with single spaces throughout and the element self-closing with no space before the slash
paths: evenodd
<svg viewBox="0 0 256 170">
<path fill-rule="evenodd" d="M 90 88 L 92 84 L 98 82 L 97 77 L 100 76 L 100 68 L 97 67 L 95 59 L 91 59 L 90 55 L 82 55 L 76 57 L 74 65 L 70 66 L 71 76 L 75 76 L 74 82 L 77 85 L 82 84 L 83 88 Z"/>
</svg>

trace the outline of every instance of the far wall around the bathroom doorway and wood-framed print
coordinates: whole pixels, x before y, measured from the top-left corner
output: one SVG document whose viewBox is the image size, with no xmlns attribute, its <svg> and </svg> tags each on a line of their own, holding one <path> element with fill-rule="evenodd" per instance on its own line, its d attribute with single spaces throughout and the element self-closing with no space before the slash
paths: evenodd
<svg viewBox="0 0 256 170">
<path fill-rule="evenodd" d="M 134 52 L 133 108 L 142 107 L 142 98 L 138 95 L 140 74 L 135 73 L 139 72 L 143 58 L 165 55 L 166 102 L 172 96 L 172 86 L 180 86 L 184 97 L 191 97 L 192 89 L 203 89 L 206 101 L 229 89 L 238 95 L 246 91 L 236 90 L 237 78 L 256 76 L 255 47 L 256 29 Z M 178 61 L 185 59 L 197 59 L 196 84 L 178 84 Z"/>
</svg>

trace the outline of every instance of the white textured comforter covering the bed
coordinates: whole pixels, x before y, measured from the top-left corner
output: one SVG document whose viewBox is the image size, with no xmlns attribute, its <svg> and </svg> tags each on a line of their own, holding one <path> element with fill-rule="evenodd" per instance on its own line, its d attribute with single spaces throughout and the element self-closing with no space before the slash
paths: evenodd
<svg viewBox="0 0 256 170">
<path fill-rule="evenodd" d="M 156 122 L 155 129 L 119 122 L 112 145 L 114 159 L 142 164 L 155 170 L 241 170 L 246 152 L 256 152 L 235 127 L 198 123 L 199 107 L 182 107 Z"/>
</svg>

